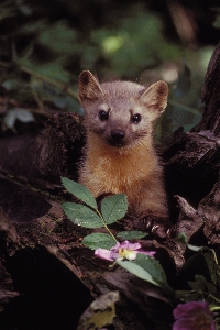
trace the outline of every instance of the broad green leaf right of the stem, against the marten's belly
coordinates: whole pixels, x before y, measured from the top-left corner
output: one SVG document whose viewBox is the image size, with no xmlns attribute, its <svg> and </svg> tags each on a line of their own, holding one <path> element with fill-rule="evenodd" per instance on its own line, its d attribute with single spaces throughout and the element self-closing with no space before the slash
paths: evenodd
<svg viewBox="0 0 220 330">
<path fill-rule="evenodd" d="M 124 194 L 107 197 L 101 202 L 101 213 L 109 224 L 124 217 L 128 210 L 128 200 Z"/>
</svg>

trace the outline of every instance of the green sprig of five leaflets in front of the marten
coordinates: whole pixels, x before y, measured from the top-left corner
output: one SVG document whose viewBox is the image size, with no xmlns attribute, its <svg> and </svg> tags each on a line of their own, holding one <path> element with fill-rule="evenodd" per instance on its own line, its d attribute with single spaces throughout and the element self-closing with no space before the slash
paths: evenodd
<svg viewBox="0 0 220 330">
<path fill-rule="evenodd" d="M 86 228 L 101 228 L 103 227 L 108 233 L 91 233 L 84 238 L 82 244 L 96 250 L 111 249 L 116 245 L 117 239 L 109 229 L 109 224 L 124 217 L 128 210 L 128 200 L 124 194 L 118 194 L 107 197 L 101 202 L 101 211 L 91 193 L 81 184 L 69 180 L 66 177 L 62 178 L 64 187 L 77 197 L 84 205 L 77 202 L 64 202 L 63 209 L 66 216 L 78 226 Z M 132 231 L 121 232 L 121 239 L 136 239 L 146 235 L 145 232 Z"/>
</svg>

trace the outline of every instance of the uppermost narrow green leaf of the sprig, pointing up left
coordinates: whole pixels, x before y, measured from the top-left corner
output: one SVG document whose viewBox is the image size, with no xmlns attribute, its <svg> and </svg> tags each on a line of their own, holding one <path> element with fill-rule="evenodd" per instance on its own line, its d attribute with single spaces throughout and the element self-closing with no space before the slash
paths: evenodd
<svg viewBox="0 0 220 330">
<path fill-rule="evenodd" d="M 67 191 L 76 196 L 78 199 L 90 206 L 92 209 L 97 209 L 97 202 L 87 187 L 76 182 L 69 180 L 67 177 L 62 177 L 62 183 Z"/>
</svg>

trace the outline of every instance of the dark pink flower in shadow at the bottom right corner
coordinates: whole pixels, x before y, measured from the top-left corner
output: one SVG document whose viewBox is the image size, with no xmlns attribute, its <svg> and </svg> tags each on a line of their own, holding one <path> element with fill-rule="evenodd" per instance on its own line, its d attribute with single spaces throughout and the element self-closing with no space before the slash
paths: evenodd
<svg viewBox="0 0 220 330">
<path fill-rule="evenodd" d="M 174 309 L 173 330 L 216 330 L 213 314 L 206 301 L 179 304 Z"/>
</svg>

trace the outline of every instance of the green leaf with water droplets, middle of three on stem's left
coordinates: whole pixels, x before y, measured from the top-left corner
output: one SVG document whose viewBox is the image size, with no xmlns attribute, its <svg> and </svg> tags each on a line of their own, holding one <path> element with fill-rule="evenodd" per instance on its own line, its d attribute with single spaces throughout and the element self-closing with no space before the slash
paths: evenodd
<svg viewBox="0 0 220 330">
<path fill-rule="evenodd" d="M 103 227 L 101 218 L 84 205 L 76 202 L 64 202 L 62 207 L 66 216 L 78 226 L 86 228 Z"/>
</svg>

